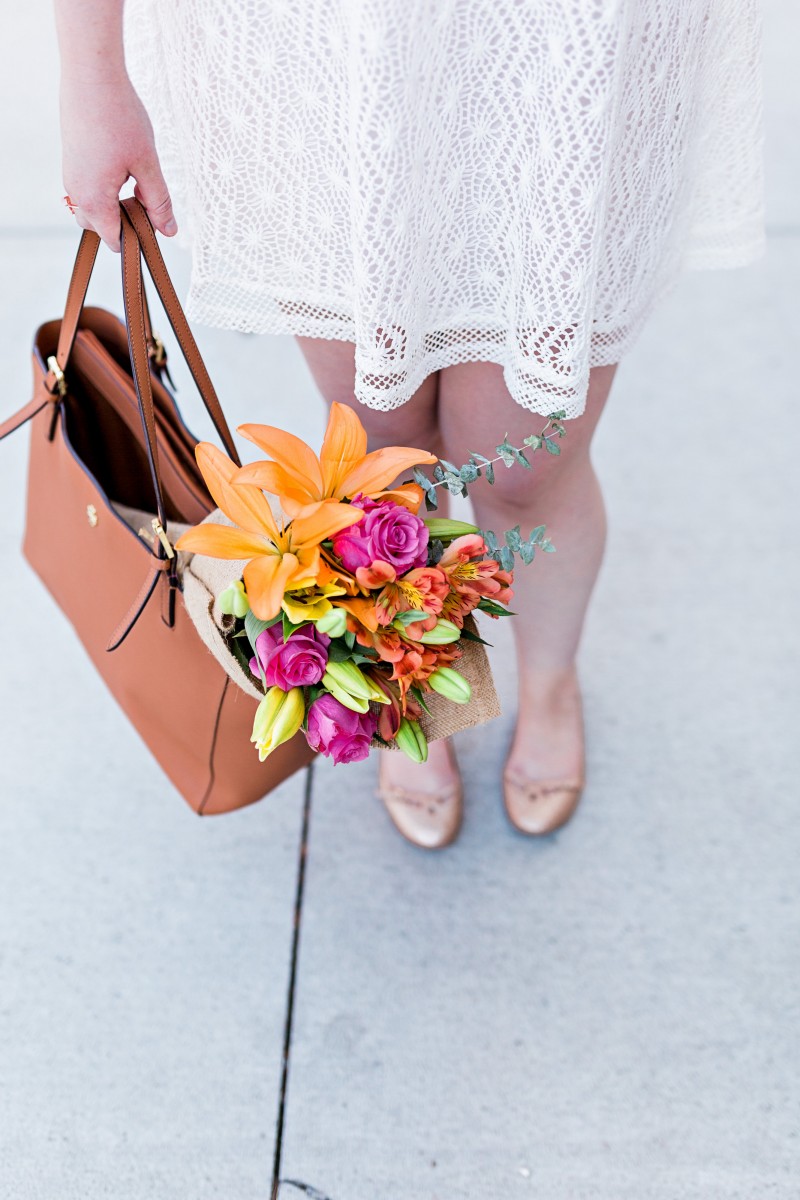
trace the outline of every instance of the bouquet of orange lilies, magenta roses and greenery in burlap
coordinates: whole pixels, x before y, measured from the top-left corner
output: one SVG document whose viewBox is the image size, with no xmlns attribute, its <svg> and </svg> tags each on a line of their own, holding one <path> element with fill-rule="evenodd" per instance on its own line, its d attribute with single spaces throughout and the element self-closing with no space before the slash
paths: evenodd
<svg viewBox="0 0 800 1200">
<path fill-rule="evenodd" d="M 560 415 L 551 419 L 557 432 Z M 239 432 L 270 460 L 240 468 L 200 443 L 197 460 L 217 511 L 176 548 L 227 562 L 206 629 L 218 656 L 222 637 L 229 674 L 260 697 L 252 736 L 260 760 L 302 730 L 335 763 L 365 758 L 373 745 L 425 761 L 421 722 L 429 724 L 432 702 L 440 712 L 440 697 L 473 700 L 467 676 L 475 679 L 475 670 L 465 667 L 475 653 L 485 662 L 473 614 L 510 614 L 513 554 L 530 560 L 536 546 L 552 548 L 543 527 L 527 540 L 517 527 L 499 545 L 476 526 L 420 516 L 423 499 L 435 505 L 438 486 L 465 493 L 468 481 L 491 474 L 492 461 L 473 456 L 456 468 L 409 446 L 367 454 L 363 426 L 343 404 L 331 406 L 319 457 L 272 426 Z M 534 439 L 528 445 L 537 449 Z M 529 466 L 507 439 L 498 450 L 509 466 L 509 456 Z M 421 472 L 426 464 L 435 464 L 433 480 Z M 410 469 L 414 481 L 393 482 Z M 187 608 L 205 636 L 187 578 Z M 488 715 L 497 713 L 491 688 Z"/>
</svg>

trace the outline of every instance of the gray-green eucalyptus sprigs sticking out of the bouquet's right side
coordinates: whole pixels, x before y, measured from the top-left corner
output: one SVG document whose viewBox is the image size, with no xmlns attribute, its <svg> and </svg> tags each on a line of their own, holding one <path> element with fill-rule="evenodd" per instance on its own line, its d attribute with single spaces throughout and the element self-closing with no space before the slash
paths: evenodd
<svg viewBox="0 0 800 1200">
<path fill-rule="evenodd" d="M 551 413 L 541 433 L 531 433 L 523 439 L 521 446 L 512 445 L 506 433 L 504 440 L 495 446 L 497 456 L 494 458 L 487 458 L 486 455 L 477 454 L 475 450 L 471 451 L 463 467 L 456 467 L 446 458 L 440 458 L 433 468 L 433 479 L 415 467 L 414 479 L 425 492 L 426 509 L 431 511 L 439 506 L 438 487 L 446 487 L 451 496 L 469 496 L 469 485 L 477 479 L 486 479 L 489 485 L 494 484 L 494 464 L 498 462 L 505 467 L 518 466 L 524 467 L 525 470 L 533 470 L 533 464 L 527 455 L 534 455 L 537 450 L 560 455 L 561 446 L 557 438 L 560 440 L 566 436 L 566 426 L 563 424 L 565 416 L 564 409 Z M 504 571 L 513 570 L 516 554 L 519 554 L 523 563 L 531 563 L 537 548 L 548 554 L 555 550 L 549 538 L 545 536 L 545 526 L 537 526 L 527 538 L 522 535 L 518 524 L 513 529 L 506 529 L 499 538 L 493 529 L 481 529 L 480 533 L 488 552 L 498 559 Z"/>
</svg>

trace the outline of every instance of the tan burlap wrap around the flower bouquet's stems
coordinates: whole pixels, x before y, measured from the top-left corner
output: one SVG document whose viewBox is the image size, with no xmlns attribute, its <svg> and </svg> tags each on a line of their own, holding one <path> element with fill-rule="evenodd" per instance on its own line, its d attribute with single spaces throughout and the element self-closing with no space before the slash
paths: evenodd
<svg viewBox="0 0 800 1200">
<path fill-rule="evenodd" d="M 218 511 L 212 512 L 207 520 L 219 524 L 230 524 L 224 514 Z M 234 683 L 248 696 L 259 700 L 264 695 L 263 691 L 245 673 L 228 648 L 227 630 L 230 628 L 231 618 L 225 617 L 217 604 L 217 596 L 230 583 L 241 578 L 245 563 L 206 558 L 204 554 L 181 554 L 180 559 L 184 601 L 198 634 Z M 464 624 L 467 629 L 476 631 L 471 617 Z M 463 653 L 455 666 L 471 685 L 470 702 L 469 704 L 455 704 L 437 692 L 427 692 L 425 698 L 431 715 L 423 713 L 420 725 L 428 742 L 449 738 L 452 733 L 469 730 L 474 725 L 483 725 L 500 715 L 500 703 L 494 690 L 486 650 L 480 642 L 469 641 L 462 641 L 461 648 Z"/>
</svg>

